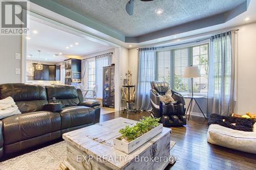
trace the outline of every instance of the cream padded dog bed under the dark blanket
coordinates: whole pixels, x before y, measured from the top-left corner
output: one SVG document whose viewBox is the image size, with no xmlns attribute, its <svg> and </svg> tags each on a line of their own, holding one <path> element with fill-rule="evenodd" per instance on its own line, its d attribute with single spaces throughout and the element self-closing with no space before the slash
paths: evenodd
<svg viewBox="0 0 256 170">
<path fill-rule="evenodd" d="M 245 132 L 211 124 L 207 141 L 222 147 L 256 154 L 256 124 L 252 132 Z"/>
</svg>

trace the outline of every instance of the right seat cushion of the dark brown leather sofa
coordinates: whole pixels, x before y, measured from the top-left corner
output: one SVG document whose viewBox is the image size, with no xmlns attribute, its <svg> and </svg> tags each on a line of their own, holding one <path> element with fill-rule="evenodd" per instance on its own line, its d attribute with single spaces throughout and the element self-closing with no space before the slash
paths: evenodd
<svg viewBox="0 0 256 170">
<path fill-rule="evenodd" d="M 60 112 L 61 129 L 90 124 L 94 122 L 94 109 L 85 106 L 63 108 Z"/>
</svg>

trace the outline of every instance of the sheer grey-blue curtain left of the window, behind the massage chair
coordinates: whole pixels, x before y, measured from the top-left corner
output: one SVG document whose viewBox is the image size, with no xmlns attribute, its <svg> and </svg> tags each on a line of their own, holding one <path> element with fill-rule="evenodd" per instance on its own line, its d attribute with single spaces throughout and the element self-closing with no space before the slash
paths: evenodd
<svg viewBox="0 0 256 170">
<path fill-rule="evenodd" d="M 151 82 L 156 78 L 156 48 L 139 48 L 136 109 L 151 111 Z"/>
</svg>

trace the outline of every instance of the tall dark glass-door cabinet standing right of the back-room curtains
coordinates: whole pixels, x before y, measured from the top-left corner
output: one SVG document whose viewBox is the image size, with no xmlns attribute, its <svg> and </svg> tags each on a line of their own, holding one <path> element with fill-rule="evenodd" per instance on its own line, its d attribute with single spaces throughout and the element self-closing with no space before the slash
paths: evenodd
<svg viewBox="0 0 256 170">
<path fill-rule="evenodd" d="M 102 105 L 115 108 L 115 66 L 103 67 Z"/>
</svg>

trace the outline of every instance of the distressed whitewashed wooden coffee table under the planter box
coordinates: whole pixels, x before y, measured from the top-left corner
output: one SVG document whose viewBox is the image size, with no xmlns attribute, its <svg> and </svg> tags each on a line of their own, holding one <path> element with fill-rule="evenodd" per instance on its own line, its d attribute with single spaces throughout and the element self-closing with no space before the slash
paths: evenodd
<svg viewBox="0 0 256 170">
<path fill-rule="evenodd" d="M 120 136 L 119 129 L 136 122 L 119 117 L 63 134 L 67 141 L 64 164 L 70 170 L 164 169 L 170 158 L 169 128 L 163 128 L 161 133 L 130 154 L 114 149 L 113 139 Z"/>
</svg>

